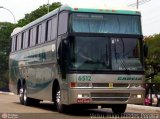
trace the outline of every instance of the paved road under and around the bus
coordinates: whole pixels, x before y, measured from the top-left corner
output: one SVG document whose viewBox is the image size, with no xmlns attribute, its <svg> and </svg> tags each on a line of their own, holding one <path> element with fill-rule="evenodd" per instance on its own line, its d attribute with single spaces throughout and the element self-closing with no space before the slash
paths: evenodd
<svg viewBox="0 0 160 119">
<path fill-rule="evenodd" d="M 160 119 L 160 107 L 128 105 L 121 117 L 111 109 L 93 109 L 79 112 L 58 113 L 50 102 L 37 106 L 23 106 L 17 95 L 0 93 L 0 119 Z"/>
</svg>

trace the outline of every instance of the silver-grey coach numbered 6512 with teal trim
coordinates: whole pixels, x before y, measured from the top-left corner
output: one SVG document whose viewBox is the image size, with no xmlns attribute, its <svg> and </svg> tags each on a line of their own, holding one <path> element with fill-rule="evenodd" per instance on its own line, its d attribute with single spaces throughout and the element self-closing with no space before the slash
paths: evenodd
<svg viewBox="0 0 160 119">
<path fill-rule="evenodd" d="M 63 5 L 11 34 L 9 87 L 24 105 L 109 107 L 144 103 L 141 13 Z"/>
</svg>

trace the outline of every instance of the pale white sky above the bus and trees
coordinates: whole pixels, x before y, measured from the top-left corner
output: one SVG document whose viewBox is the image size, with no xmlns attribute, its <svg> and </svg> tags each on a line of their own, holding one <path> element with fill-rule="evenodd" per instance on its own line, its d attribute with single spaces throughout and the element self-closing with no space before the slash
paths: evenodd
<svg viewBox="0 0 160 119">
<path fill-rule="evenodd" d="M 68 5 L 81 6 L 127 6 L 136 3 L 137 0 L 0 0 L 0 7 L 3 6 L 12 12 L 0 8 L 0 22 L 16 22 L 24 18 L 25 14 L 34 11 L 43 4 L 61 2 Z M 145 36 L 160 33 L 160 0 L 139 0 L 148 1 L 139 5 L 142 14 L 142 31 Z M 132 6 L 136 8 L 136 6 Z"/>
</svg>

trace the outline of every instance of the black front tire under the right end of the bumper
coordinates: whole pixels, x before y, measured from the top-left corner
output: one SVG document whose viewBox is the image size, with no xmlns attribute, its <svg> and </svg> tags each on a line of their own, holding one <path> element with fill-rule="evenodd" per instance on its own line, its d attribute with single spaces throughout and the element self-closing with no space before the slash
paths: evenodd
<svg viewBox="0 0 160 119">
<path fill-rule="evenodd" d="M 125 112 L 127 104 L 115 104 L 112 106 L 112 111 L 114 114 L 122 114 Z"/>
</svg>

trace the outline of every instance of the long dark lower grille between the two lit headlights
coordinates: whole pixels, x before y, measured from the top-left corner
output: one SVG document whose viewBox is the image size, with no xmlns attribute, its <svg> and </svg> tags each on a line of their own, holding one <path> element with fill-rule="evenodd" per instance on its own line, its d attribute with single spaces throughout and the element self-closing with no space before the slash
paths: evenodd
<svg viewBox="0 0 160 119">
<path fill-rule="evenodd" d="M 91 93 L 92 101 L 127 101 L 129 93 Z"/>
</svg>

